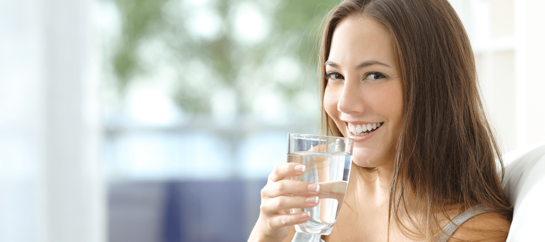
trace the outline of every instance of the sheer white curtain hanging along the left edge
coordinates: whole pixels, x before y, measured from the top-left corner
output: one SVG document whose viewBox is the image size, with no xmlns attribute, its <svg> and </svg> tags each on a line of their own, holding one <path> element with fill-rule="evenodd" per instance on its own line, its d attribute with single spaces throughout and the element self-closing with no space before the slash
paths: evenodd
<svg viewBox="0 0 545 242">
<path fill-rule="evenodd" d="M 0 0 L 0 241 L 105 241 L 93 0 Z"/>
</svg>

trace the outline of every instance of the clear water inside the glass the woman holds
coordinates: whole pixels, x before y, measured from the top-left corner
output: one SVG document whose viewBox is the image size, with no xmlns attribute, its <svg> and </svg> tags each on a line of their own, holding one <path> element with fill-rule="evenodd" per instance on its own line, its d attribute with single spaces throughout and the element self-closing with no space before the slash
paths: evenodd
<svg viewBox="0 0 545 242">
<path fill-rule="evenodd" d="M 289 179 L 320 184 L 320 199 L 316 207 L 290 209 L 290 213 L 310 211 L 310 219 L 300 226 L 312 231 L 332 227 L 337 221 L 346 193 L 352 154 L 292 153 L 288 154 L 288 162 L 306 166 L 305 174 Z"/>
</svg>

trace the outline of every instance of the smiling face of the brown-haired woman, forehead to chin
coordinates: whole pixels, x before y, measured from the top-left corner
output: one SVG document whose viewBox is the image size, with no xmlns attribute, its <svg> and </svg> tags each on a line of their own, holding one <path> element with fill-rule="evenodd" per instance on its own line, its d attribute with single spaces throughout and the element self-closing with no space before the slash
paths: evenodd
<svg viewBox="0 0 545 242">
<path fill-rule="evenodd" d="M 401 130 L 403 90 L 387 32 L 366 17 L 342 20 L 325 71 L 325 111 L 344 137 L 354 138 L 354 163 L 391 164 Z"/>
</svg>

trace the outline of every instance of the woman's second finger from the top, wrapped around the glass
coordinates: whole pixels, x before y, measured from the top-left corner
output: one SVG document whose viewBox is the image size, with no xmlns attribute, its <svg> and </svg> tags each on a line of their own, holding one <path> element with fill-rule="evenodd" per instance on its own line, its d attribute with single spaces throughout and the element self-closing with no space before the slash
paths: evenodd
<svg viewBox="0 0 545 242">
<path fill-rule="evenodd" d="M 261 190 L 262 198 L 278 197 L 282 195 L 316 196 L 320 191 L 320 185 L 298 180 L 279 180 L 271 182 Z"/>
</svg>

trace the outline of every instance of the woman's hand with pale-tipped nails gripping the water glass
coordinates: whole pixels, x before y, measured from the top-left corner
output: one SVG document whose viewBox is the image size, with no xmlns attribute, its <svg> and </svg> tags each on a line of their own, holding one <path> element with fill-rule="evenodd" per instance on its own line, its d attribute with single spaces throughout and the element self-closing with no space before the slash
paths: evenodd
<svg viewBox="0 0 545 242">
<path fill-rule="evenodd" d="M 282 241 L 289 234 L 289 226 L 308 220 L 310 211 L 289 214 L 289 209 L 312 208 L 318 205 L 320 186 L 306 181 L 285 179 L 304 173 L 305 166 L 298 163 L 281 163 L 275 166 L 267 185 L 261 190 L 259 219 L 248 241 Z"/>
</svg>

